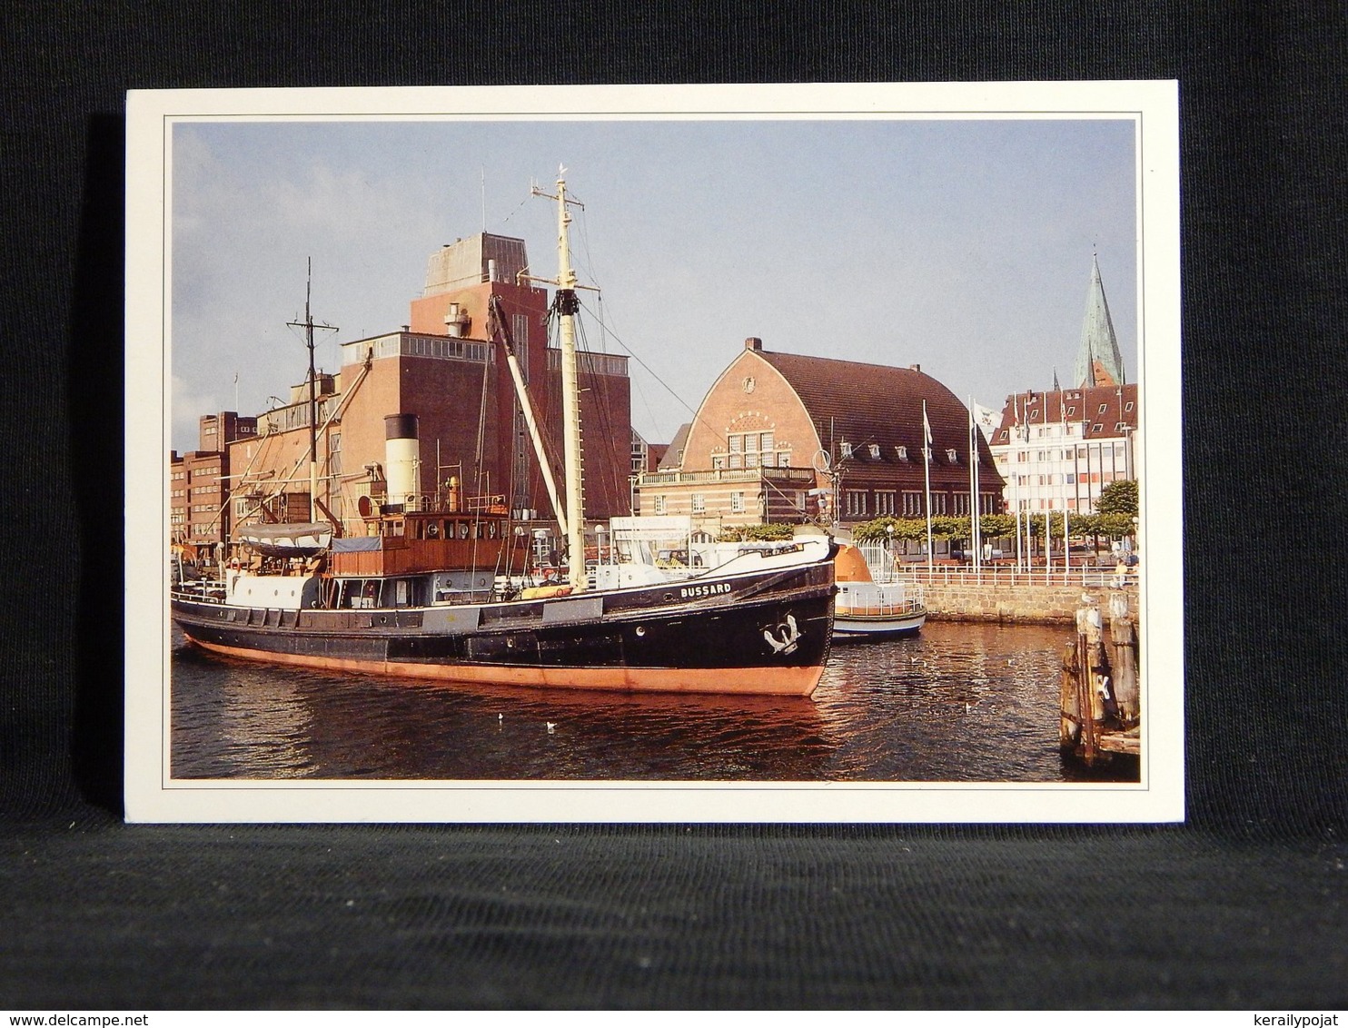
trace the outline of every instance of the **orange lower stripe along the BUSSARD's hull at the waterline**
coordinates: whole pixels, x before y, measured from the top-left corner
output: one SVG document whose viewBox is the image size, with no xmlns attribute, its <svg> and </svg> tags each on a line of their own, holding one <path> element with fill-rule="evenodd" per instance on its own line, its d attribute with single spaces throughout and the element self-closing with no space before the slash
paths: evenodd
<svg viewBox="0 0 1348 1028">
<path fill-rule="evenodd" d="M 190 637 L 190 636 L 189 636 Z M 484 686 L 530 688 L 600 688 L 613 693 L 720 693 L 743 695 L 807 697 L 824 675 L 824 667 L 511 667 L 501 664 L 417 664 L 398 660 L 346 660 L 342 657 L 274 653 L 226 647 L 191 639 L 213 653 L 266 664 L 288 664 L 321 671 L 356 671 L 373 675 L 423 678 Z"/>
</svg>

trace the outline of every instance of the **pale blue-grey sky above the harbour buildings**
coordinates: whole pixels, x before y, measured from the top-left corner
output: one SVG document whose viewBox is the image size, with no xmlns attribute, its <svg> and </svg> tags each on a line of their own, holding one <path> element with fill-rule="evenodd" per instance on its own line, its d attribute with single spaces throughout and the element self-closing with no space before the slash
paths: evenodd
<svg viewBox="0 0 1348 1028">
<path fill-rule="evenodd" d="M 1128 119 L 193 121 L 173 127 L 173 447 L 201 414 L 260 414 L 315 360 L 408 322 L 431 252 L 522 237 L 557 274 L 555 191 L 585 341 L 632 357 L 632 426 L 669 442 L 758 335 L 907 366 L 1000 410 L 1068 387 L 1097 255 L 1138 372 Z M 594 315 L 603 315 L 603 327 Z"/>
</svg>

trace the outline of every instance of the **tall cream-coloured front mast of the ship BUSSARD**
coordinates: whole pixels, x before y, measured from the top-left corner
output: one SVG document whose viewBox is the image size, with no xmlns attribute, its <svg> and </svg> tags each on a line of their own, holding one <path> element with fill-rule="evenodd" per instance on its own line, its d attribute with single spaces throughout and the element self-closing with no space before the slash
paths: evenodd
<svg viewBox="0 0 1348 1028">
<path fill-rule="evenodd" d="M 585 591 L 589 581 L 585 577 L 585 499 L 581 477 L 581 408 L 580 376 L 576 371 L 576 314 L 580 300 L 576 298 L 576 271 L 572 268 L 569 226 L 572 216 L 569 206 L 584 209 L 577 199 L 568 199 L 566 179 L 558 168 L 557 195 L 543 193 L 534 186 L 535 197 L 557 201 L 557 311 L 561 315 L 562 345 L 562 459 L 566 465 L 566 548 L 568 577 L 572 590 Z M 542 282 L 542 279 L 534 279 Z M 584 288 L 584 287 L 581 287 Z"/>
</svg>

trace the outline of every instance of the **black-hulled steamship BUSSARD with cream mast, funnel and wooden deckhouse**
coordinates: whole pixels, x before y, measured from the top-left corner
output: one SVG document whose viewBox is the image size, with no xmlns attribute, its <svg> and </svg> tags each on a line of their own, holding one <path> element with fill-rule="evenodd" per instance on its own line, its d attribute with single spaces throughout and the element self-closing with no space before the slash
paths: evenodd
<svg viewBox="0 0 1348 1028">
<path fill-rule="evenodd" d="M 535 187 L 535 193 L 538 193 Z M 539 194 L 543 195 L 543 194 Z M 496 318 L 541 472 L 568 540 L 566 574 L 523 587 L 495 574 L 518 546 L 510 511 L 457 488 L 417 496 L 406 453 L 417 419 L 386 418 L 388 488 L 361 497 L 364 534 L 252 525 L 243 560 L 212 581 L 179 581 L 171 617 L 212 653 L 274 664 L 446 683 L 617 691 L 810 695 L 833 633 L 836 546 L 825 538 L 747 550 L 677 581 L 655 567 L 585 563 L 576 275 L 558 178 L 565 500 L 558 494 L 508 326 Z M 541 280 L 537 280 L 541 282 Z M 310 400 L 313 400 L 313 321 Z M 313 420 L 310 422 L 313 424 Z M 310 435 L 310 468 L 314 466 Z M 313 474 L 313 473 L 311 473 Z M 313 496 L 313 489 L 311 489 Z"/>
</svg>

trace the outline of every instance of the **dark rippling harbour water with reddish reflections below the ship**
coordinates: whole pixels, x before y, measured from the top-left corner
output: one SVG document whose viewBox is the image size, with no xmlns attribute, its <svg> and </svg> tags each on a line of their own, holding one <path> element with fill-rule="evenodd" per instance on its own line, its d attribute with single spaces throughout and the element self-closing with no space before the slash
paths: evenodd
<svg viewBox="0 0 1348 1028">
<path fill-rule="evenodd" d="M 448 686 L 225 660 L 174 633 L 178 779 L 1062 781 L 1062 629 L 836 645 L 811 699 Z"/>
</svg>

